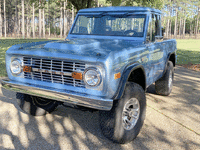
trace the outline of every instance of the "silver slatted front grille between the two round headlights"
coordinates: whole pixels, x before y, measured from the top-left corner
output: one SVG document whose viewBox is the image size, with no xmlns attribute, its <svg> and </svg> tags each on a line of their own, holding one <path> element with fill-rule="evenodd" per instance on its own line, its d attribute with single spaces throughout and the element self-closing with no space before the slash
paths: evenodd
<svg viewBox="0 0 200 150">
<path fill-rule="evenodd" d="M 72 72 L 83 72 L 84 63 L 48 58 L 23 57 L 23 65 L 31 66 L 32 72 L 24 72 L 24 78 L 59 83 L 74 87 L 85 87 L 82 80 L 72 78 Z"/>
</svg>

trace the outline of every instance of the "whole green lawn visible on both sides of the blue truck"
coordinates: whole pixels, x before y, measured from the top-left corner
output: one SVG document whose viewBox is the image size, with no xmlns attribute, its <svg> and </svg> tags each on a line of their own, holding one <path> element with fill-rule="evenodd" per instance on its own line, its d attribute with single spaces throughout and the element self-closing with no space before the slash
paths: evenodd
<svg viewBox="0 0 200 150">
<path fill-rule="evenodd" d="M 6 76 L 5 52 L 15 44 L 47 41 L 45 39 L 1 39 L 0 40 L 0 77 Z M 177 64 L 200 64 L 200 40 L 177 40 Z"/>
</svg>

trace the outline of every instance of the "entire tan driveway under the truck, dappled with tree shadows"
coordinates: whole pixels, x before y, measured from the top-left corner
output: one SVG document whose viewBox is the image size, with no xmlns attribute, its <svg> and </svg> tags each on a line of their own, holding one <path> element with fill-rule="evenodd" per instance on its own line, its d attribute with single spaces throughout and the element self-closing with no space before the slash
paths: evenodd
<svg viewBox="0 0 200 150">
<path fill-rule="evenodd" d="M 170 96 L 147 90 L 147 114 L 138 137 L 120 145 L 100 131 L 98 112 L 59 106 L 52 114 L 23 113 L 15 92 L 0 87 L 0 149 L 136 150 L 200 149 L 200 72 L 176 67 Z"/>
</svg>

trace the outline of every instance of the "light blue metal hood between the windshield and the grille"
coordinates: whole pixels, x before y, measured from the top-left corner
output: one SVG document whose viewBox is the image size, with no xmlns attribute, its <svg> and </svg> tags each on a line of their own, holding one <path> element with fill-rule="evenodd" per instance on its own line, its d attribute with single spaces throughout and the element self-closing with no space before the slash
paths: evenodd
<svg viewBox="0 0 200 150">
<path fill-rule="evenodd" d="M 106 58 L 112 51 L 121 51 L 142 44 L 142 41 L 71 39 L 65 41 L 37 42 L 15 45 L 7 54 L 22 54 L 88 60 Z M 79 56 L 79 57 L 78 57 Z"/>
</svg>

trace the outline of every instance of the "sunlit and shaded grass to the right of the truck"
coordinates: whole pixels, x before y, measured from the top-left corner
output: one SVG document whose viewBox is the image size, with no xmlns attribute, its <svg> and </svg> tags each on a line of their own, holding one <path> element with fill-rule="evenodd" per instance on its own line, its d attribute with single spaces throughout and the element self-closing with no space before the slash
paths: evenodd
<svg viewBox="0 0 200 150">
<path fill-rule="evenodd" d="M 177 64 L 200 64 L 200 40 L 177 40 Z"/>
</svg>

